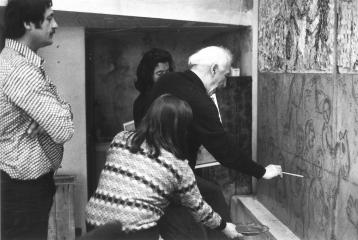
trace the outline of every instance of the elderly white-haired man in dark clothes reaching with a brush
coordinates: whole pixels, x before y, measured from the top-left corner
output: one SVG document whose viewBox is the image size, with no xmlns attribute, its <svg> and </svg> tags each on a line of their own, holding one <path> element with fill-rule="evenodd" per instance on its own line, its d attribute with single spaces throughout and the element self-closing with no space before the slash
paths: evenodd
<svg viewBox="0 0 358 240">
<path fill-rule="evenodd" d="M 193 111 L 193 123 L 187 136 L 189 165 L 194 169 L 198 149 L 203 145 L 223 166 L 254 176 L 257 179 L 271 179 L 282 176 L 279 165 L 263 167 L 244 156 L 234 139 L 220 121 L 219 112 L 210 98 L 216 89 L 224 87 L 230 74 L 231 52 L 219 46 L 203 48 L 189 57 L 190 70 L 167 73 L 154 85 L 148 105 L 164 93 L 173 94 L 189 103 Z M 221 216 L 230 221 L 229 208 L 221 189 L 198 176 L 197 182 L 204 199 Z M 202 229 L 190 220 L 190 214 L 182 207 L 171 205 L 161 220 L 160 229 L 164 239 L 225 239 L 203 233 Z M 215 234 L 215 233 L 214 233 Z"/>
</svg>

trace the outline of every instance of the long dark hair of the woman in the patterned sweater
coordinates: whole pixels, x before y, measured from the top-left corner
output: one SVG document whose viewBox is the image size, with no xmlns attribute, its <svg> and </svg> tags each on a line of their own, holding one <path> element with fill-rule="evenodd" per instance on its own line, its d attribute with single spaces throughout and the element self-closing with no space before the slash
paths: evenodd
<svg viewBox="0 0 358 240">
<path fill-rule="evenodd" d="M 131 152 L 140 151 L 145 141 L 149 155 L 158 157 L 160 149 L 179 159 L 187 157 L 187 128 L 193 118 L 189 104 L 173 95 L 159 96 L 150 106 L 131 140 Z"/>
</svg>

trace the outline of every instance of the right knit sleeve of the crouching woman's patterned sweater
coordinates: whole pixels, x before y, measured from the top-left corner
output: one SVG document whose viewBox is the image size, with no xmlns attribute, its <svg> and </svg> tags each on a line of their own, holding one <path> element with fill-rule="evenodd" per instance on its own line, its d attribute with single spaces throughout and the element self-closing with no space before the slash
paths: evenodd
<svg viewBox="0 0 358 240">
<path fill-rule="evenodd" d="M 201 222 L 211 229 L 222 230 L 225 228 L 226 222 L 203 200 L 192 169 L 186 162 L 182 162 L 180 165 L 182 177 L 176 192 L 180 203 L 190 210 L 197 222 Z"/>
</svg>

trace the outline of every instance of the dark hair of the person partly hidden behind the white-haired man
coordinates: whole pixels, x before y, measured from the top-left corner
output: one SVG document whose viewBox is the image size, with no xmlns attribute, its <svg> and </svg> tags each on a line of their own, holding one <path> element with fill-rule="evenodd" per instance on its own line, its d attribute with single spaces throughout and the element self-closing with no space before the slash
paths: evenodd
<svg viewBox="0 0 358 240">
<path fill-rule="evenodd" d="M 158 63 L 169 63 L 169 72 L 174 70 L 174 62 L 170 53 L 160 48 L 153 48 L 143 55 L 137 67 L 136 89 L 143 93 L 150 90 L 154 84 L 153 72 Z"/>
</svg>

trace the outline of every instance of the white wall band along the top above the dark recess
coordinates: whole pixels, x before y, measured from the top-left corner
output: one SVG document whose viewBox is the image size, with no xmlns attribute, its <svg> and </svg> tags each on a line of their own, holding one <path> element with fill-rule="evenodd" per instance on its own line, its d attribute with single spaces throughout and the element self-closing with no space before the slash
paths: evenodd
<svg viewBox="0 0 358 240">
<path fill-rule="evenodd" d="M 53 0 L 55 10 L 251 25 L 246 0 Z"/>
</svg>

